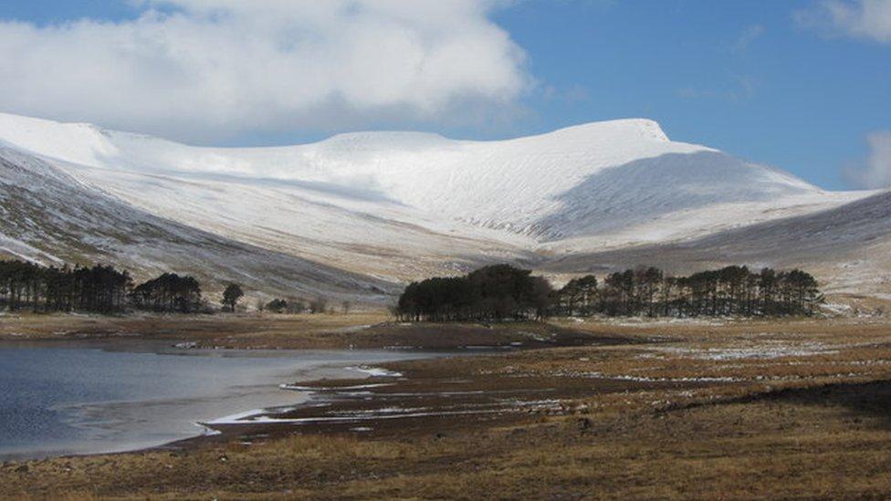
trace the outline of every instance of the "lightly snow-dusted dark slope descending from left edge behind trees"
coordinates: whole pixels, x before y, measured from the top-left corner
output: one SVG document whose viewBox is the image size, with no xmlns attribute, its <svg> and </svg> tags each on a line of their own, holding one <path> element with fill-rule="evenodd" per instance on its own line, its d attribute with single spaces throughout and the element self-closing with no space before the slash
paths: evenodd
<svg viewBox="0 0 891 501">
<path fill-rule="evenodd" d="M 237 281 L 264 296 L 385 300 L 398 287 L 176 224 L 84 186 L 53 165 L 0 147 L 0 257 L 45 265 L 104 263 L 138 278 L 191 273 L 205 290 Z"/>
</svg>

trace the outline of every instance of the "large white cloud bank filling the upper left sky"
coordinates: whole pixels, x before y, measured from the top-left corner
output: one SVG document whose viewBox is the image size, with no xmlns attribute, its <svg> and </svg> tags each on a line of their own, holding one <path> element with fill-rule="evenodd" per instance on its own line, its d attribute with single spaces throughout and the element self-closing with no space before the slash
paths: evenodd
<svg viewBox="0 0 891 501">
<path fill-rule="evenodd" d="M 530 85 L 492 0 L 136 5 L 116 23 L 0 22 L 0 110 L 204 141 L 479 119 Z"/>
</svg>

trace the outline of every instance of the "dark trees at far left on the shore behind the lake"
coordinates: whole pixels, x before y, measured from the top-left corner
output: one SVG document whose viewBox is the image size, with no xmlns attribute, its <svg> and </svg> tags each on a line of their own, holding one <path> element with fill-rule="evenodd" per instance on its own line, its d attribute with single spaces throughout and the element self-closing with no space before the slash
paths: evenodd
<svg viewBox="0 0 891 501">
<path fill-rule="evenodd" d="M 244 296 L 230 284 L 224 305 L 235 310 Z M 24 261 L 0 261 L 0 308 L 34 311 L 120 312 L 136 308 L 192 313 L 210 309 L 194 277 L 164 273 L 133 287 L 129 272 L 113 266 L 38 266 Z"/>
</svg>

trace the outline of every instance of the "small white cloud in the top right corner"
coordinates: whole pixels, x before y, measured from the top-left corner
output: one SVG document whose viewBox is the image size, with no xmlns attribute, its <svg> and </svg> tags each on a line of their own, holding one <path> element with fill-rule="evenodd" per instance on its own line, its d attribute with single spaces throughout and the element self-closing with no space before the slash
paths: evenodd
<svg viewBox="0 0 891 501">
<path fill-rule="evenodd" d="M 891 0 L 823 0 L 795 13 L 795 20 L 847 37 L 891 42 Z"/>
</svg>

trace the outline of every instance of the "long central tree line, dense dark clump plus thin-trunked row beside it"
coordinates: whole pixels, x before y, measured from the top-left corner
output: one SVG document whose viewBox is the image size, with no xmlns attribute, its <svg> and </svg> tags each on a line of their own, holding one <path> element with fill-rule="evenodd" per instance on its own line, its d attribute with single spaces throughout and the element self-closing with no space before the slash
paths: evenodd
<svg viewBox="0 0 891 501">
<path fill-rule="evenodd" d="M 603 278 L 588 275 L 554 290 L 543 277 L 509 265 L 465 277 L 414 282 L 393 308 L 410 321 L 500 321 L 547 316 L 779 317 L 813 315 L 823 302 L 816 279 L 799 269 L 726 266 L 675 277 L 638 267 Z"/>
</svg>

